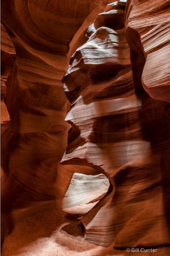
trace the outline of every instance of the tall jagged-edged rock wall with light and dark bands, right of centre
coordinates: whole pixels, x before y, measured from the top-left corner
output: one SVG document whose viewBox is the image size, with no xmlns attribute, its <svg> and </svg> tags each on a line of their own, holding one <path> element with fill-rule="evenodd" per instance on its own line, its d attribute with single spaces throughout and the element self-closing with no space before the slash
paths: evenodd
<svg viewBox="0 0 170 256">
<path fill-rule="evenodd" d="M 72 130 L 61 163 L 93 167 L 111 183 L 107 195 L 80 220 L 86 241 L 102 246 L 113 243 L 115 248 L 167 245 L 169 104 L 164 93 L 155 98 L 148 95 L 145 81 L 162 88 L 161 75 L 155 72 L 159 61 L 147 68 L 145 47 L 139 40 L 135 46 L 139 36 L 129 28 L 129 17 L 131 24 L 136 21 L 130 13 L 132 2 L 147 11 L 146 1 L 128 2 L 127 15 L 131 16 L 126 16 L 126 35 L 125 2 L 114 2 L 97 16 L 94 33 L 70 59 L 63 82 L 71 102 L 66 121 Z M 145 30 L 140 19 L 137 23 Z M 142 71 L 147 92 L 141 84 Z"/>
</svg>

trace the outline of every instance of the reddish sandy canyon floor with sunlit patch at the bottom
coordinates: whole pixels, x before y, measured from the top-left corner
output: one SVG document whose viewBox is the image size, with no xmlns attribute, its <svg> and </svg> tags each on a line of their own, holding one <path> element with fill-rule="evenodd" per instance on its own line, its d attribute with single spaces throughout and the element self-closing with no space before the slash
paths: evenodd
<svg viewBox="0 0 170 256">
<path fill-rule="evenodd" d="M 2 246 L 2 256 L 169 256 L 170 248 L 162 247 L 156 253 L 133 253 L 114 250 L 85 242 L 75 225 L 75 219 L 94 207 L 82 204 L 65 210 L 48 210 L 20 219 Z M 74 236 L 63 229 L 71 230 Z"/>
</svg>

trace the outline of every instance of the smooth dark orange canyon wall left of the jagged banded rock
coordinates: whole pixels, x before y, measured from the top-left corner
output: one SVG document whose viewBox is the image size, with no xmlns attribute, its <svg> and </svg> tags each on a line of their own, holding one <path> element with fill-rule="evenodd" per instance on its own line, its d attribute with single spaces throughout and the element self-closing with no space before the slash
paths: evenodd
<svg viewBox="0 0 170 256">
<path fill-rule="evenodd" d="M 2 122 L 10 120 L 1 139 L 5 229 L 12 209 L 30 204 L 37 207 L 37 203 L 56 199 L 57 207 L 61 207 L 73 173 L 79 172 L 77 167 L 70 170 L 59 164 L 70 129 L 65 122 L 70 106 L 61 79 L 66 73 L 71 39 L 81 26 L 86 30 L 108 2 L 1 2 L 2 85 L 7 88 Z M 78 31 L 76 36 L 80 38 L 81 34 Z M 82 36 L 88 39 L 88 33 Z M 83 173 L 94 174 L 91 168 L 84 169 Z M 96 187 L 98 184 L 96 181 Z M 83 198 L 88 200 L 85 194 L 86 189 Z"/>
</svg>

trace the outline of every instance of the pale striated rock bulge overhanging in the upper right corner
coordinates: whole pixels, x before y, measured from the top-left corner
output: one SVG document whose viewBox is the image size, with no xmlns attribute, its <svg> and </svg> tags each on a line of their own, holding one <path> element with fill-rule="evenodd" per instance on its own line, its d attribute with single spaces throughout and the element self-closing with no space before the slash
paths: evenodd
<svg viewBox="0 0 170 256">
<path fill-rule="evenodd" d="M 169 8 L 168 0 L 156 1 L 156 5 L 152 0 L 129 0 L 126 10 L 129 46 L 146 59 L 142 73 L 143 88 L 155 100 L 165 102 L 170 101 Z"/>
</svg>

